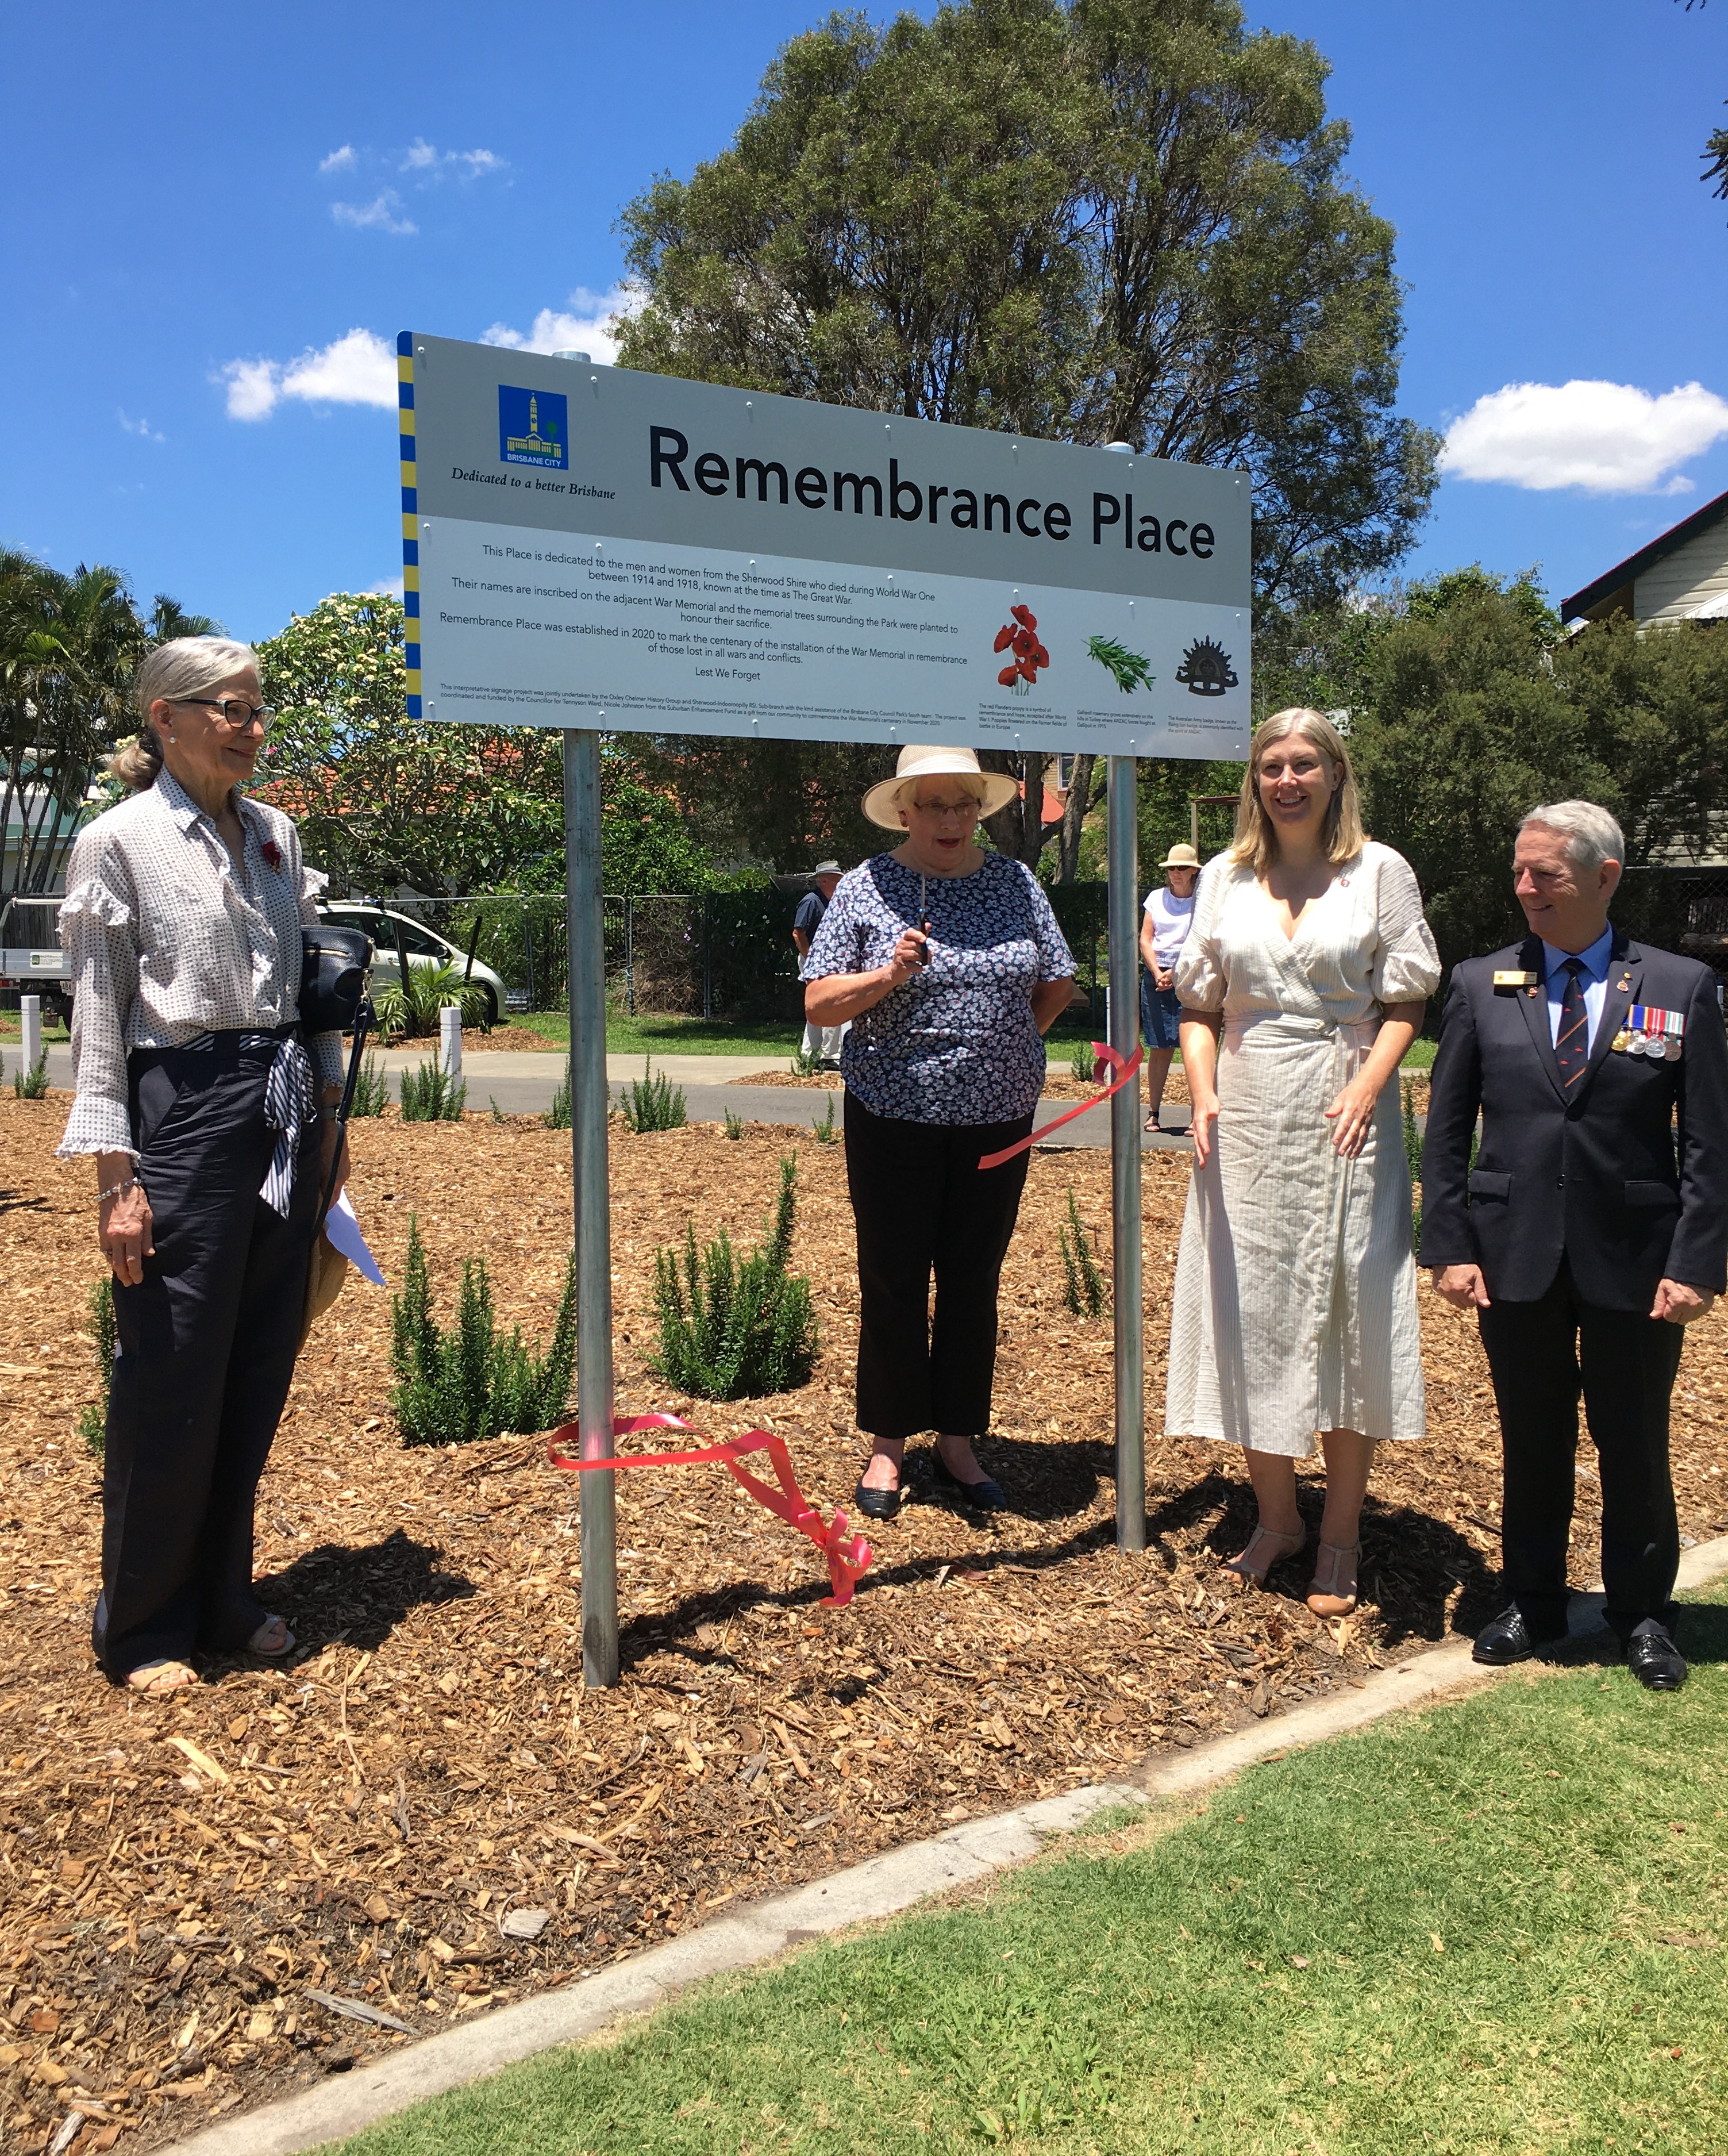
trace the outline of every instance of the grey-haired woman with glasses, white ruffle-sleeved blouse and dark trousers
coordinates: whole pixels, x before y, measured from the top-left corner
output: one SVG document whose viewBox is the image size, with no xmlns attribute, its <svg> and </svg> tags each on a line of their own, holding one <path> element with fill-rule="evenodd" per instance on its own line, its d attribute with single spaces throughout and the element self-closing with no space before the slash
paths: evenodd
<svg viewBox="0 0 1728 2156">
<path fill-rule="evenodd" d="M 75 1100 L 60 1153 L 97 1169 L 119 1354 L 103 1455 L 97 1660 L 194 1684 L 192 1654 L 280 1660 L 252 1587 L 252 1501 L 293 1378 L 321 1184 L 336 1166 L 340 1035 L 302 1039 L 302 923 L 323 877 L 246 800 L 269 709 L 226 636 L 138 668 L 131 798 L 71 852 Z M 315 1076 L 317 1069 L 317 1076 Z"/>
</svg>

